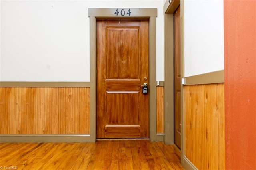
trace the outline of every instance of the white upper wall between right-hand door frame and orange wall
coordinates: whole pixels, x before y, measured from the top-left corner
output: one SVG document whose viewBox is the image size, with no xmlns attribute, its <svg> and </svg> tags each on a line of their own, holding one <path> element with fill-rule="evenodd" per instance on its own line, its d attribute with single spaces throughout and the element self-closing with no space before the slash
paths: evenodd
<svg viewBox="0 0 256 170">
<path fill-rule="evenodd" d="M 223 0 L 184 1 L 184 75 L 224 69 Z"/>
</svg>

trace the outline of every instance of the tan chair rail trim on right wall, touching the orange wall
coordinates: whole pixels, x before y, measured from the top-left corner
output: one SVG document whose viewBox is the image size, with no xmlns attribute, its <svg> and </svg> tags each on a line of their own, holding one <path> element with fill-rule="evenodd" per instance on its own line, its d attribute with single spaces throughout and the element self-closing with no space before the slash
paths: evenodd
<svg viewBox="0 0 256 170">
<path fill-rule="evenodd" d="M 224 83 L 224 70 L 184 77 L 184 85 Z"/>
</svg>

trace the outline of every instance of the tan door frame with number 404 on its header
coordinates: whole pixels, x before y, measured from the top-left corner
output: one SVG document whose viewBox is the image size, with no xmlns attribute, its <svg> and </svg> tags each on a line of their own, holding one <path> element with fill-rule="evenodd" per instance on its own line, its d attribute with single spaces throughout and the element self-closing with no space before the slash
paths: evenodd
<svg viewBox="0 0 256 170">
<path fill-rule="evenodd" d="M 149 138 L 156 141 L 156 17 L 157 8 L 89 8 L 90 18 L 90 142 L 96 141 L 96 20 L 149 20 Z M 129 8 L 118 8 L 121 12 Z"/>
</svg>

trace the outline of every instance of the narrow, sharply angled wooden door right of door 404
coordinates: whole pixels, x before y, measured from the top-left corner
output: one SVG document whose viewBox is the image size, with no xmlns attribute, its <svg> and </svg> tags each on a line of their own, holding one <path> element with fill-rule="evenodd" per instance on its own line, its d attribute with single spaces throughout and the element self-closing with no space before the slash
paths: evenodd
<svg viewBox="0 0 256 170">
<path fill-rule="evenodd" d="M 180 6 L 174 12 L 174 143 L 181 141 Z"/>
</svg>

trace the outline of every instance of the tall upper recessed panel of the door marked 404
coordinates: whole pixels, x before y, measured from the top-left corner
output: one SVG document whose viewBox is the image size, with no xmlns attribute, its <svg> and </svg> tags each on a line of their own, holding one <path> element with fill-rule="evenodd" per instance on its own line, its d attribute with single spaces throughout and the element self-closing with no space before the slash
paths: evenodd
<svg viewBox="0 0 256 170">
<path fill-rule="evenodd" d="M 106 78 L 139 79 L 139 27 L 106 26 Z M 125 38 L 125 42 L 123 41 Z M 131 69 L 133 68 L 133 69 Z"/>
</svg>

